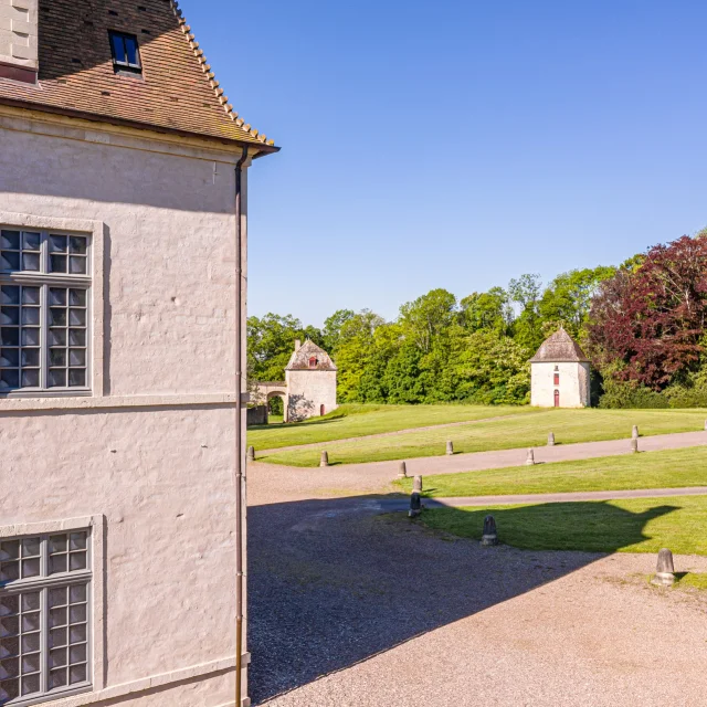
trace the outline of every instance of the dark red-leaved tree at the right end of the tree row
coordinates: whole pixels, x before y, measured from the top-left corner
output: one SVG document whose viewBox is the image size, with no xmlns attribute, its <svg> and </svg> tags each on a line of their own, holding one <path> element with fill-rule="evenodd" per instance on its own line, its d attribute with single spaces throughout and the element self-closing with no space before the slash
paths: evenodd
<svg viewBox="0 0 707 707">
<path fill-rule="evenodd" d="M 633 272 L 619 271 L 592 302 L 594 363 L 653 390 L 699 359 L 707 318 L 707 238 L 652 247 Z"/>
</svg>

